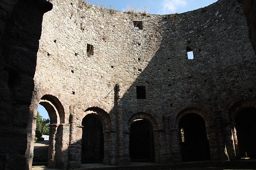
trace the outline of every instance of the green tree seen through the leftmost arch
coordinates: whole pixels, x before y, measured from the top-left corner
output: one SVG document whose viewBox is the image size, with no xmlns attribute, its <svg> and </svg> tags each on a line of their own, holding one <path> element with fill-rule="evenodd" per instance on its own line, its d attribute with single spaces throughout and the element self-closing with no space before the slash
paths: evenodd
<svg viewBox="0 0 256 170">
<path fill-rule="evenodd" d="M 35 136 L 42 137 L 42 135 L 49 135 L 50 131 L 50 119 L 43 119 L 43 117 L 37 111 L 37 126 L 35 128 Z"/>
</svg>

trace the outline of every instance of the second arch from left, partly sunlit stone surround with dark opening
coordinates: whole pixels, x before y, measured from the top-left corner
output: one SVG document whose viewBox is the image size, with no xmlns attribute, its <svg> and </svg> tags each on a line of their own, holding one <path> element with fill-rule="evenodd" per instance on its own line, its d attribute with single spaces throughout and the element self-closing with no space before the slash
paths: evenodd
<svg viewBox="0 0 256 170">
<path fill-rule="evenodd" d="M 81 119 L 82 118 L 82 119 Z M 78 125 L 80 128 L 77 130 L 77 136 L 80 136 L 80 143 L 82 145 L 82 163 L 99 163 L 110 164 L 111 158 L 111 120 L 107 112 L 98 107 L 87 108 L 82 117 L 78 119 Z M 91 127 L 90 127 L 91 126 Z M 91 128 L 88 129 L 88 128 Z M 91 133 L 91 137 L 89 137 Z M 103 135 L 101 135 L 101 134 Z M 98 142 L 97 139 L 99 139 Z M 93 145 L 87 145 L 88 141 Z M 96 145 L 98 146 L 96 146 Z M 89 147 L 95 148 L 96 154 L 93 159 L 87 159 L 89 154 L 93 150 L 89 150 Z M 86 158 L 87 157 L 87 158 Z"/>
</svg>

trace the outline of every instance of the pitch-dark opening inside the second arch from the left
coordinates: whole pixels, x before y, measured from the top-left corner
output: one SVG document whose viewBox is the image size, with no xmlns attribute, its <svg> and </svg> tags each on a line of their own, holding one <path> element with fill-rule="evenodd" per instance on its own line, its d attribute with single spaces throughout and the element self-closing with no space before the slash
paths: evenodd
<svg viewBox="0 0 256 170">
<path fill-rule="evenodd" d="M 102 123 L 96 114 L 89 114 L 83 118 L 82 126 L 81 163 L 102 163 L 104 158 Z"/>
</svg>

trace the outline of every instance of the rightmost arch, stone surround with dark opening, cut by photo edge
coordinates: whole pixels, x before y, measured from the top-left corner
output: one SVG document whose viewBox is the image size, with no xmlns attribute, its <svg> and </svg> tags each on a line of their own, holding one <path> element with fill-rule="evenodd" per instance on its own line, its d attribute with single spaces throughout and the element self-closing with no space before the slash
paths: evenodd
<svg viewBox="0 0 256 170">
<path fill-rule="evenodd" d="M 256 101 L 241 100 L 229 110 L 228 117 L 232 128 L 232 137 L 236 157 L 256 157 Z"/>
</svg>

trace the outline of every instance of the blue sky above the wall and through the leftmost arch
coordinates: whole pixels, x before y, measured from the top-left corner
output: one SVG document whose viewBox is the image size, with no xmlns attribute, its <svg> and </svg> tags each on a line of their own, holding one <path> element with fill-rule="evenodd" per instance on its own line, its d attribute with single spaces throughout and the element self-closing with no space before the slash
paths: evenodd
<svg viewBox="0 0 256 170">
<path fill-rule="evenodd" d="M 138 9 L 147 9 L 150 14 L 184 13 L 213 4 L 217 0 L 84 0 L 90 4 L 116 9 L 117 11 L 128 11 L 132 6 Z M 111 5 L 110 5 L 111 4 Z M 39 104 L 38 111 L 43 118 L 48 118 L 48 113 Z"/>
</svg>

